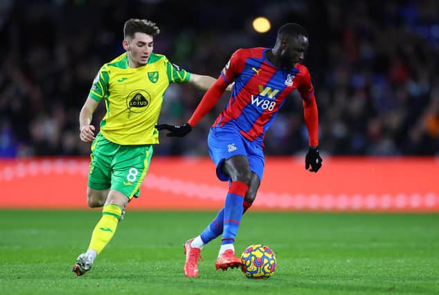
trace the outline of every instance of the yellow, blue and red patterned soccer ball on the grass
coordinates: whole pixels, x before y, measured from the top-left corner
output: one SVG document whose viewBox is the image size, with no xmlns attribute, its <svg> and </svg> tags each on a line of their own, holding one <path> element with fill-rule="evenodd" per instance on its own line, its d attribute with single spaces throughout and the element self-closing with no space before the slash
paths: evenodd
<svg viewBox="0 0 439 295">
<path fill-rule="evenodd" d="M 276 254 L 265 245 L 251 245 L 242 252 L 241 270 L 247 278 L 269 278 L 276 270 Z"/>
</svg>

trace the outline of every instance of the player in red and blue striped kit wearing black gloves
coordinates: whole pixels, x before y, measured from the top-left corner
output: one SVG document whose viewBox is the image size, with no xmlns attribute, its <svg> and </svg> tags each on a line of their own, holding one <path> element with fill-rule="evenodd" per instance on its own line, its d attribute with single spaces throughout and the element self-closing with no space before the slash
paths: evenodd
<svg viewBox="0 0 439 295">
<path fill-rule="evenodd" d="M 224 208 L 210 225 L 185 243 L 186 276 L 198 276 L 201 249 L 221 234 L 215 268 L 226 270 L 241 265 L 233 243 L 242 214 L 255 200 L 262 180 L 264 136 L 289 93 L 296 89 L 303 99 L 303 115 L 309 135 L 305 169 L 317 172 L 321 168 L 314 87 L 310 73 L 301 64 L 308 45 L 305 28 L 297 23 L 286 23 L 278 30 L 274 48 L 248 48 L 233 53 L 187 123 L 156 126 L 158 130 L 170 131 L 167 136 L 185 136 L 215 106 L 226 87 L 235 82 L 229 104 L 217 117 L 208 135 L 209 153 L 216 164 L 217 177 L 229 181 L 229 192 Z"/>
</svg>

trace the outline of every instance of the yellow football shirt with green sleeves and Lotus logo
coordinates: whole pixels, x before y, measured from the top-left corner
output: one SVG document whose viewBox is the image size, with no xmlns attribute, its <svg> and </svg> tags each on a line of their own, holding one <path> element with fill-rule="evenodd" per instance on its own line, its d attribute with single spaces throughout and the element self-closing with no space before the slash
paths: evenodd
<svg viewBox="0 0 439 295">
<path fill-rule="evenodd" d="M 163 94 L 170 83 L 186 83 L 190 74 L 164 55 L 151 53 L 145 66 L 130 68 L 127 53 L 100 68 L 89 97 L 105 99 L 107 113 L 100 132 L 116 144 L 157 144 Z"/>
</svg>

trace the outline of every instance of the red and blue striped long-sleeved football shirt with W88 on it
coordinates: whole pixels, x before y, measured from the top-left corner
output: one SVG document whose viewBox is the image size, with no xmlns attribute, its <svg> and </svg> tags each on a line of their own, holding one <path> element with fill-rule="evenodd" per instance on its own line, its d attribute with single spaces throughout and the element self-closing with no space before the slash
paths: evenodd
<svg viewBox="0 0 439 295">
<path fill-rule="evenodd" d="M 216 104 L 221 91 L 235 82 L 229 103 L 218 115 L 213 126 L 238 129 L 248 140 L 263 142 L 265 133 L 285 98 L 297 89 L 304 101 L 305 122 L 310 129 L 310 145 L 316 145 L 318 119 L 314 87 L 308 69 L 301 64 L 296 64 L 292 69 L 274 66 L 266 57 L 267 50 L 269 49 L 247 48 L 235 51 L 224 66 L 218 81 L 204 95 L 188 121 L 189 124 L 195 126 Z M 309 108 L 311 111 L 307 111 L 308 105 L 312 106 Z"/>
</svg>

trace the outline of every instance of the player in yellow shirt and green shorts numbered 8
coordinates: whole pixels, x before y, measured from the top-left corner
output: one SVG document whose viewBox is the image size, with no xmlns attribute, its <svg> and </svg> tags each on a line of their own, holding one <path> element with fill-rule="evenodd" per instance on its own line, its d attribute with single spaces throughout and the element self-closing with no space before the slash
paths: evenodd
<svg viewBox="0 0 439 295">
<path fill-rule="evenodd" d="M 166 88 L 170 83 L 190 83 L 207 90 L 215 83 L 213 77 L 188 73 L 164 55 L 153 53 L 154 36 L 159 33 L 155 23 L 129 19 L 123 32 L 126 53 L 100 68 L 80 111 L 80 139 L 92 142 L 87 203 L 103 209 L 89 249 L 73 266 L 77 276 L 91 269 L 96 256 L 114 236 L 125 206 L 138 197 L 150 165 L 152 144 L 159 143 L 154 126 Z M 95 137 L 91 119 L 101 99 L 107 113 Z"/>
</svg>

